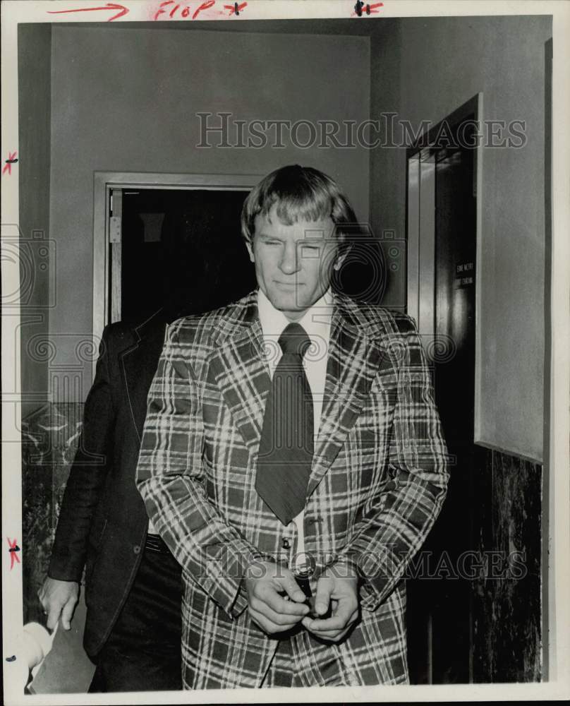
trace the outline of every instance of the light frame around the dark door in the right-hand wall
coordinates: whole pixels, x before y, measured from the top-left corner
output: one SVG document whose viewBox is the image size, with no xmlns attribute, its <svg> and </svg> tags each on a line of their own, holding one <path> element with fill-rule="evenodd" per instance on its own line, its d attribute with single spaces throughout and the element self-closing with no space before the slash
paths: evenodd
<svg viewBox="0 0 570 706">
<path fill-rule="evenodd" d="M 435 196 L 435 150 L 426 145 L 433 142 L 442 124 L 456 126 L 468 116 L 474 116 L 475 131 L 483 136 L 483 93 L 479 92 L 447 117 L 442 118 L 429 131 L 421 133 L 416 144 L 406 150 L 406 237 L 408 240 L 407 263 L 407 312 L 416 320 L 418 332 L 429 340 L 434 333 L 435 287 L 435 213 L 428 210 L 420 219 L 420 210 Z M 482 443 L 481 414 L 481 268 L 480 253 L 483 234 L 483 138 L 473 148 L 475 183 L 475 409 L 474 443 Z M 411 160 L 417 162 L 411 169 Z M 420 174 L 422 164 L 423 174 Z M 414 173 L 415 172 L 415 173 Z M 420 176 L 422 181 L 420 182 Z M 423 184 L 423 189 L 420 188 Z"/>
</svg>

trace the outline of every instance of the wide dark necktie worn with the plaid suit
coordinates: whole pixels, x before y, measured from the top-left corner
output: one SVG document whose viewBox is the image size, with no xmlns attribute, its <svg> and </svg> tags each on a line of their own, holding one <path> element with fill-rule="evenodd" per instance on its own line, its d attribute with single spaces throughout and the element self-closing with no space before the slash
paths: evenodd
<svg viewBox="0 0 570 706">
<path fill-rule="evenodd" d="M 255 489 L 284 525 L 305 507 L 313 462 L 313 396 L 303 369 L 307 332 L 290 323 L 279 338 L 261 433 Z"/>
</svg>

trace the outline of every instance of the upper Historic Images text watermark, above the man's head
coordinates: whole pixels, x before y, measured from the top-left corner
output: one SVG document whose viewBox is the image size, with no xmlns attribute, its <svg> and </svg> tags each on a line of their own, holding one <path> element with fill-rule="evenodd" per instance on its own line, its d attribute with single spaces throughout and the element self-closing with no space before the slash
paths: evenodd
<svg viewBox="0 0 570 706">
<path fill-rule="evenodd" d="M 354 149 L 431 147 L 437 149 L 479 146 L 522 148 L 526 145 L 526 121 L 465 119 L 451 126 L 429 120 L 413 124 L 397 113 L 381 113 L 377 119 L 356 120 L 241 120 L 231 112 L 197 112 L 200 128 L 198 148 Z"/>
</svg>

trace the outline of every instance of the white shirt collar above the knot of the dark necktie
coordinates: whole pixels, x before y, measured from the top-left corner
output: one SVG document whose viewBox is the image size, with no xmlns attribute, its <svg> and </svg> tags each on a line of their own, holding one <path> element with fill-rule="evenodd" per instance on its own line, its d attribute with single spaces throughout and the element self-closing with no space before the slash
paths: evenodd
<svg viewBox="0 0 570 706">
<path fill-rule="evenodd" d="M 319 340 L 328 342 L 329 340 L 332 316 L 330 301 L 332 301 L 332 294 L 329 289 L 320 299 L 315 301 L 310 309 L 305 311 L 298 321 L 313 342 Z M 257 311 L 260 316 L 263 337 L 266 339 L 277 340 L 286 326 L 291 323 L 282 311 L 275 309 L 261 289 L 257 290 Z"/>
</svg>

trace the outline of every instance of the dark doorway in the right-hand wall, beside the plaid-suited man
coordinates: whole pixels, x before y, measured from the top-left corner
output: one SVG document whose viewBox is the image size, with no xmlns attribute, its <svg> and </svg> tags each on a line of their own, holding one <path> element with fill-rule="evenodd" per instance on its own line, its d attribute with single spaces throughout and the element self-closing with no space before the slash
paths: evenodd
<svg viewBox="0 0 570 706">
<path fill-rule="evenodd" d="M 475 339 L 481 97 L 408 150 L 408 313 L 416 318 L 450 455 L 447 499 L 408 580 L 412 683 L 473 681 Z"/>
</svg>

